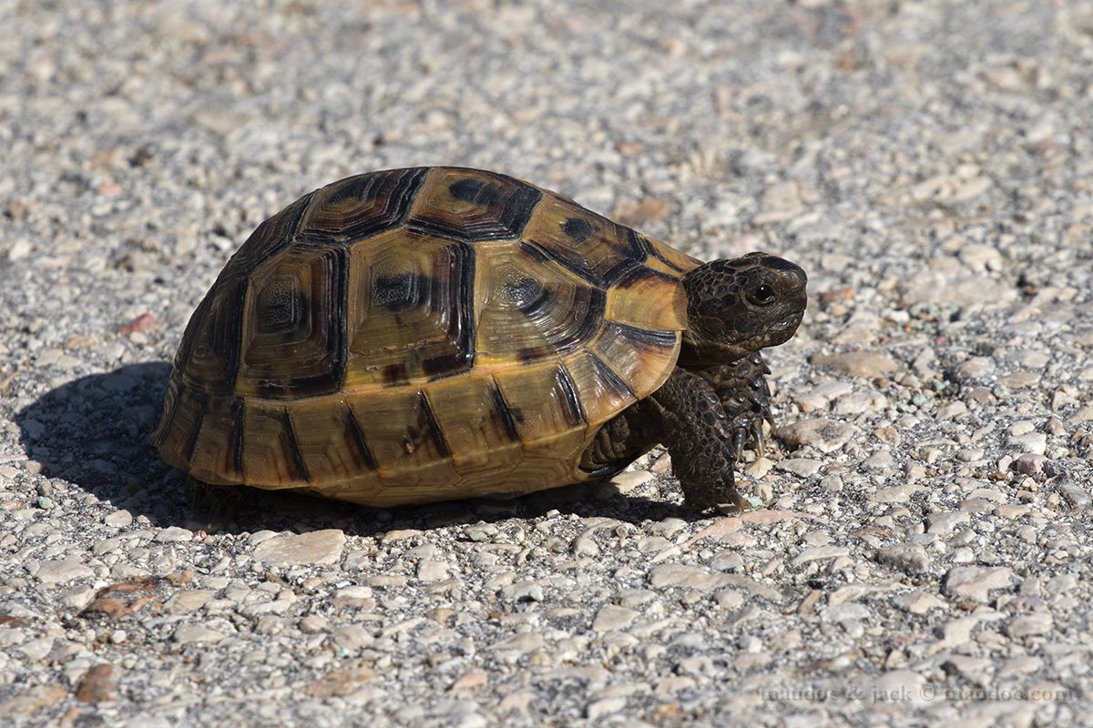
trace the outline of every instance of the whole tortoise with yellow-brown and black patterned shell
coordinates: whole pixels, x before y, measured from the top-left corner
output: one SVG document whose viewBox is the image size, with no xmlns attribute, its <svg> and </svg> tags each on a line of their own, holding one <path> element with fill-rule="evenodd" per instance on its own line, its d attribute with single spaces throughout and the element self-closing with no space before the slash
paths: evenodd
<svg viewBox="0 0 1093 728">
<path fill-rule="evenodd" d="M 806 282 L 501 174 L 349 177 L 227 262 L 152 441 L 205 484 L 369 506 L 602 478 L 663 443 L 687 508 L 740 506 L 733 465 L 771 419 L 760 349 L 794 335 Z"/>
</svg>

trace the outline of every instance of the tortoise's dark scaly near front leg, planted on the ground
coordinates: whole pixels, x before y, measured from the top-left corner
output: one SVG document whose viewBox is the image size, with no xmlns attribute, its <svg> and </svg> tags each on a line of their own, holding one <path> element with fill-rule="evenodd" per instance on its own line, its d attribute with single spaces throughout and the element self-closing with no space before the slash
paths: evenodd
<svg viewBox="0 0 1093 728">
<path fill-rule="evenodd" d="M 677 367 L 648 403 L 643 408 L 655 417 L 687 506 L 704 511 L 731 503 L 744 510 L 732 475 L 737 430 L 714 385 Z"/>
</svg>

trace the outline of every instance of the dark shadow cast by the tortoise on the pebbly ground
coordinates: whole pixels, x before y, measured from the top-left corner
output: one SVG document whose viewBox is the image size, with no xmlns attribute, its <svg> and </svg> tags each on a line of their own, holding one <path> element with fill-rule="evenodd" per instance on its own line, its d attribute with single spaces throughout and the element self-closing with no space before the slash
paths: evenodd
<svg viewBox="0 0 1093 728">
<path fill-rule="evenodd" d="M 195 487 L 168 467 L 150 442 L 171 365 L 132 363 L 68 382 L 16 413 L 27 456 L 48 478 L 82 488 L 99 501 L 152 524 L 209 533 L 341 528 L 371 536 L 402 528 L 534 518 L 551 511 L 628 523 L 701 517 L 674 503 L 622 496 L 610 485 L 580 484 L 518 498 L 473 499 L 369 509 L 294 492 Z"/>
</svg>

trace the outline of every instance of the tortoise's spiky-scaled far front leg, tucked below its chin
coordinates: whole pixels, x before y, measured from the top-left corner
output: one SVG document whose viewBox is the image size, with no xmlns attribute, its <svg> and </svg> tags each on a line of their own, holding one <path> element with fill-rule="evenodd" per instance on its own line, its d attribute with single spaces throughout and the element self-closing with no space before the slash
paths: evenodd
<svg viewBox="0 0 1093 728">
<path fill-rule="evenodd" d="M 700 377 L 714 387 L 729 418 L 737 460 L 744 449 L 762 455 L 763 422 L 774 427 L 771 389 L 766 383 L 766 374 L 769 373 L 771 370 L 759 351 L 734 363 L 700 372 Z"/>
</svg>

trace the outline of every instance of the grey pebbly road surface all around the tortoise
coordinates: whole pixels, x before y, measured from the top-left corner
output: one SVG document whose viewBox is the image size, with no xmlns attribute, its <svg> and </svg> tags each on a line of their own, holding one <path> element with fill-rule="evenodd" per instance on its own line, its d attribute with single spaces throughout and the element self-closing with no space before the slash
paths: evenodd
<svg viewBox="0 0 1093 728">
<path fill-rule="evenodd" d="M 0 724 L 1089 719 L 1093 5 L 607 5 L 0 4 Z M 203 520 L 148 440 L 195 305 L 419 164 L 809 271 L 760 509 L 689 515 L 655 451 Z"/>
</svg>

